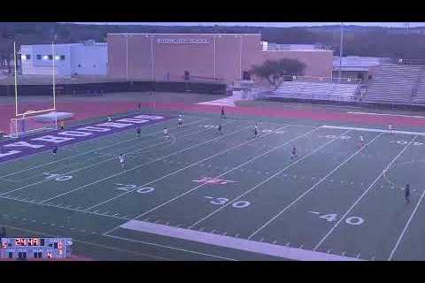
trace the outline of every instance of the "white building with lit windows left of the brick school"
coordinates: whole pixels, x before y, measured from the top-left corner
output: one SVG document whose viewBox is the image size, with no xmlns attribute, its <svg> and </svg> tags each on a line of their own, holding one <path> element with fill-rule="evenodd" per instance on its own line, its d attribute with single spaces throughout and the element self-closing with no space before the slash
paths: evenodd
<svg viewBox="0 0 425 283">
<path fill-rule="evenodd" d="M 55 74 L 106 75 L 107 43 L 87 41 L 54 45 Z M 51 44 L 21 45 L 22 74 L 51 75 Z"/>
</svg>

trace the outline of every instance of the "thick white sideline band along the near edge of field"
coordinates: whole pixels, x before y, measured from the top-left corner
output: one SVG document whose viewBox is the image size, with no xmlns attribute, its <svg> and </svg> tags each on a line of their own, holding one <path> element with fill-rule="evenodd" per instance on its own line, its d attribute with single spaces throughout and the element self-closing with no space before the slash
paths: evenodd
<svg viewBox="0 0 425 283">
<path fill-rule="evenodd" d="M 158 225 L 151 222 L 143 222 L 139 220 L 130 220 L 127 223 L 120 226 L 120 228 L 143 232 L 143 233 L 154 233 L 158 235 L 164 235 L 168 237 L 178 238 L 188 241 L 203 242 L 219 247 L 226 247 L 230 249 L 239 249 L 254 253 L 259 253 L 268 256 L 278 256 L 283 258 L 289 258 L 293 260 L 304 260 L 304 261 L 357 261 L 359 259 L 336 256 L 321 252 L 316 252 L 306 249 L 284 247 L 276 244 L 261 241 L 251 241 L 245 239 L 236 239 L 221 235 L 218 233 L 205 233 L 195 230 L 189 230 L 174 226 Z"/>
</svg>

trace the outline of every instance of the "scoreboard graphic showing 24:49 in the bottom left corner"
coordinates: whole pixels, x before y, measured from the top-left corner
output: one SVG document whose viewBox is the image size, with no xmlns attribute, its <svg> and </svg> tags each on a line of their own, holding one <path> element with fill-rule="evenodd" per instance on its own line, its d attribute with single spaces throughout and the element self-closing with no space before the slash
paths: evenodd
<svg viewBox="0 0 425 283">
<path fill-rule="evenodd" d="M 65 259 L 72 256 L 71 238 L 2 238 L 1 259 Z"/>
</svg>

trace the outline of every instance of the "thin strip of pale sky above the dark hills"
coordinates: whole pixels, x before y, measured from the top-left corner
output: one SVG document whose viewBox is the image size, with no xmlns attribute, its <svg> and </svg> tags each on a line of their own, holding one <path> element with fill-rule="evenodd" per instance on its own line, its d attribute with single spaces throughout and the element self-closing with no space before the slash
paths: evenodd
<svg viewBox="0 0 425 283">
<path fill-rule="evenodd" d="M 93 25 L 143 25 L 143 26 L 246 26 L 246 27 L 316 27 L 340 25 L 339 22 L 87 22 Z M 346 22 L 344 25 L 361 27 L 404 27 L 404 22 Z M 409 27 L 425 27 L 425 22 L 409 22 Z"/>
</svg>

